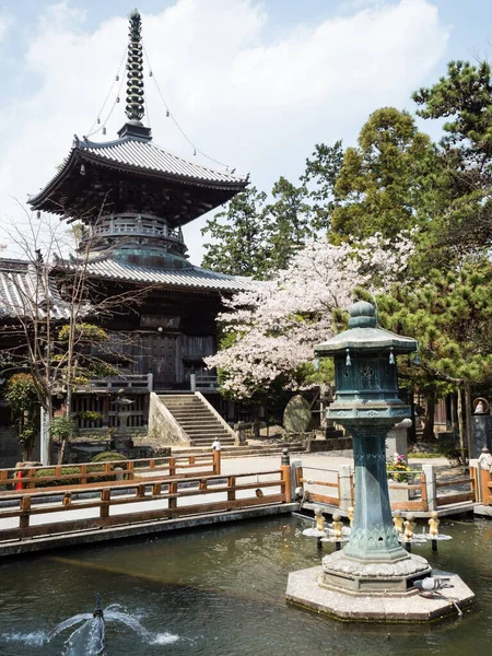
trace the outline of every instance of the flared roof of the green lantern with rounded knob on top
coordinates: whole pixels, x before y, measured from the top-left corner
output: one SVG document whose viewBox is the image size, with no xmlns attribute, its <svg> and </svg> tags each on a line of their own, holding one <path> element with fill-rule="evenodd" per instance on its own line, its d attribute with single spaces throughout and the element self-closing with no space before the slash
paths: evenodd
<svg viewBox="0 0 492 656">
<path fill-rule="evenodd" d="M 374 305 L 366 301 L 356 301 L 349 309 L 348 330 L 315 347 L 318 358 L 337 355 L 347 349 L 350 352 L 394 351 L 395 354 L 412 353 L 418 342 L 411 337 L 402 337 L 377 327 Z"/>
</svg>

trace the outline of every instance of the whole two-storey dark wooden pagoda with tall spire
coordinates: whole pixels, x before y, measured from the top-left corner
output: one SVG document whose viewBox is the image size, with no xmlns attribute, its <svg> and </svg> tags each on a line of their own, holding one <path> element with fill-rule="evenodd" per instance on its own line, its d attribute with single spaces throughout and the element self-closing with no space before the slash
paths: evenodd
<svg viewBox="0 0 492 656">
<path fill-rule="evenodd" d="M 71 266 L 83 258 L 99 294 L 110 297 L 149 288 L 144 303 L 104 319 L 110 335 L 130 337 L 116 349 L 120 371 L 152 373 L 157 389 L 189 389 L 190 374 L 199 373 L 203 358 L 216 351 L 215 317 L 222 296 L 251 283 L 194 266 L 181 229 L 232 199 L 248 177 L 189 162 L 153 142 L 151 129 L 142 124 L 137 10 L 129 23 L 127 120 L 118 138 L 95 142 L 75 136 L 55 177 L 28 202 L 37 212 L 82 224 L 79 254 Z"/>
</svg>

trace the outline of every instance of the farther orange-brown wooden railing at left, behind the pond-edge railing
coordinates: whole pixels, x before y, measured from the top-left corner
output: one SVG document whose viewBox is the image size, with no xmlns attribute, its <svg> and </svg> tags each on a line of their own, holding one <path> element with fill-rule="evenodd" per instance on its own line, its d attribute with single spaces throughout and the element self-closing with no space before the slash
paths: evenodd
<svg viewBox="0 0 492 656">
<path fill-rule="evenodd" d="M 70 473 L 67 473 L 70 470 Z M 36 472 L 47 472 L 36 476 Z M 115 485 L 118 479 L 131 481 L 155 475 L 176 479 L 219 475 L 221 452 L 190 454 L 167 458 L 140 458 L 138 460 L 112 460 L 83 462 L 81 465 L 57 465 L 54 467 L 30 467 L 28 469 L 0 469 L 0 496 L 24 493 L 42 487 L 44 490 L 83 489 L 94 485 Z M 105 479 L 105 480 L 101 480 Z M 57 481 L 57 485 L 49 483 Z M 121 482 L 119 481 L 119 482 Z M 60 483 L 61 482 L 61 483 Z M 8 489 L 16 488 L 16 490 Z"/>
</svg>

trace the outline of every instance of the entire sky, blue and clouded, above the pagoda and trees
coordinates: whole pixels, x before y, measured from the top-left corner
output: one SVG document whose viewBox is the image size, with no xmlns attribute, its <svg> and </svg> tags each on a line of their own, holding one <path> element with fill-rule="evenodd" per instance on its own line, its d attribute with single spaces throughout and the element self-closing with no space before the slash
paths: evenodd
<svg viewBox="0 0 492 656">
<path fill-rule="evenodd" d="M 28 195 L 55 175 L 74 133 L 90 134 L 101 117 L 107 134 L 92 139 L 109 140 L 125 122 L 115 78 L 120 70 L 124 82 L 131 9 L 0 0 L 3 227 L 23 225 Z M 372 112 L 413 112 L 412 91 L 436 82 L 449 60 L 489 59 L 492 48 L 490 0 L 140 0 L 138 9 L 154 142 L 250 173 L 267 191 L 280 175 L 295 181 L 316 143 L 355 143 Z M 438 137 L 438 126 L 422 127 Z M 206 220 L 185 229 L 194 263 Z M 9 234 L 0 242 L 16 255 Z"/>
</svg>

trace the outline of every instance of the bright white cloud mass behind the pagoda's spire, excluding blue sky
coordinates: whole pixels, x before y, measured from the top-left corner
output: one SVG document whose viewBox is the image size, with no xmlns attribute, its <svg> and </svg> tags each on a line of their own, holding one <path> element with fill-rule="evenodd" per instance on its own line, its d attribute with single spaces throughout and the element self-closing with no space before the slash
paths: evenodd
<svg viewBox="0 0 492 656">
<path fill-rule="evenodd" d="M 296 177 L 316 142 L 353 141 L 370 112 L 408 104 L 443 58 L 448 37 L 429 0 L 377 2 L 283 31 L 276 40 L 268 21 L 265 5 L 254 0 L 176 0 L 157 15 L 143 15 L 154 79 L 179 124 L 198 148 L 250 171 L 265 189 L 281 174 Z M 73 133 L 86 133 L 126 39 L 125 16 L 93 33 L 84 31 L 84 13 L 66 2 L 40 16 L 23 62 L 33 91 L 0 109 L 0 211 L 16 212 L 8 195 L 24 200 L 37 191 Z M 192 157 L 165 118 L 153 80 L 145 84 L 156 143 Z M 124 122 L 124 106 L 125 93 L 107 138 Z M 187 231 L 197 263 L 202 224 Z"/>
</svg>

